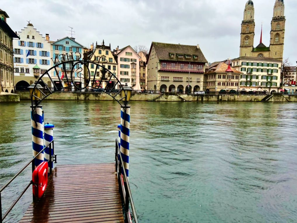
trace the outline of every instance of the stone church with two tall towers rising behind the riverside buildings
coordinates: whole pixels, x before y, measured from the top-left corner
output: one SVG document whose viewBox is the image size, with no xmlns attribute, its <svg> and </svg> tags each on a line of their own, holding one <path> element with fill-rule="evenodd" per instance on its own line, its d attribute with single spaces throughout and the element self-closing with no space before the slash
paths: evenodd
<svg viewBox="0 0 297 223">
<path fill-rule="evenodd" d="M 255 20 L 254 3 L 247 1 L 244 9 L 244 19 L 241 23 L 240 53 L 239 56 L 258 56 L 283 59 L 285 40 L 285 5 L 283 0 L 276 0 L 271 21 L 270 45 L 266 47 L 262 43 L 262 33 L 260 44 L 254 48 Z M 261 31 L 262 32 L 262 31 Z"/>
</svg>

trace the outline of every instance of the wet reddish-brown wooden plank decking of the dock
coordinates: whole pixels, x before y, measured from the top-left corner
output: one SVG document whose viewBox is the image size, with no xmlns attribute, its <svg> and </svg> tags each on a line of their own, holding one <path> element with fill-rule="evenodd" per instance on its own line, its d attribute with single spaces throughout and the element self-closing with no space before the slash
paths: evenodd
<svg viewBox="0 0 297 223">
<path fill-rule="evenodd" d="M 58 165 L 20 222 L 124 222 L 115 164 Z"/>
</svg>

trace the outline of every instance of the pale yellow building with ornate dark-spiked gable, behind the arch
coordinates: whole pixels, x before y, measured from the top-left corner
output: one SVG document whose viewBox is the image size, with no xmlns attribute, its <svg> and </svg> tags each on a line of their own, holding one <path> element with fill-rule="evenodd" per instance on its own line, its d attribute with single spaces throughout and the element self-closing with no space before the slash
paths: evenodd
<svg viewBox="0 0 297 223">
<path fill-rule="evenodd" d="M 104 44 L 104 40 L 101 45 L 91 45 L 90 51 L 88 52 L 89 56 L 91 55 L 91 60 L 94 60 L 94 63 L 99 63 L 99 65 L 108 69 L 111 73 L 113 73 L 117 78 L 119 78 L 117 67 L 118 64 L 113 56 L 111 46 L 106 46 Z M 89 87 L 96 87 L 96 88 L 107 88 L 111 89 L 117 83 L 115 78 L 111 78 L 111 74 L 109 72 L 104 72 L 104 70 L 100 67 L 97 68 L 96 65 L 89 64 L 89 71 L 91 75 L 91 81 L 89 83 Z M 106 71 L 106 70 L 105 70 Z M 85 76 L 88 75 L 88 69 L 84 69 Z M 95 76 L 95 80 L 93 81 Z M 103 76 L 103 77 L 102 77 Z M 102 83 L 100 85 L 100 80 L 102 78 Z M 118 87 L 115 87 L 116 89 Z"/>
</svg>

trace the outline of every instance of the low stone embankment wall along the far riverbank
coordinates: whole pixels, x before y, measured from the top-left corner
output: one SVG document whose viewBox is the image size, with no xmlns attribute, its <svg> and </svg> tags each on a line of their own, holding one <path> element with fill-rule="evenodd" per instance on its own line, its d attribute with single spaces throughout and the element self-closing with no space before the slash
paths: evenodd
<svg viewBox="0 0 297 223">
<path fill-rule="evenodd" d="M 16 92 L 20 99 L 30 99 L 29 92 Z M 131 101 L 261 101 L 267 95 L 187 95 L 187 94 L 132 94 Z M 117 99 L 120 99 L 117 95 Z M 157 98 L 157 99 L 156 99 Z M 49 100 L 113 100 L 106 93 L 96 92 L 55 92 Z M 297 102 L 297 95 L 275 94 L 269 102 Z"/>
</svg>

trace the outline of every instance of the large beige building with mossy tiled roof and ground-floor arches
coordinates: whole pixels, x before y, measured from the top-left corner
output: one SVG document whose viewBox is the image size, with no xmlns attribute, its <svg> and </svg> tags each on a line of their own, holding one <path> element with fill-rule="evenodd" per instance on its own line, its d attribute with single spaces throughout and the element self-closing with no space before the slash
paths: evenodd
<svg viewBox="0 0 297 223">
<path fill-rule="evenodd" d="M 206 63 L 199 45 L 152 42 L 146 63 L 147 90 L 199 91 L 203 88 Z"/>
</svg>

